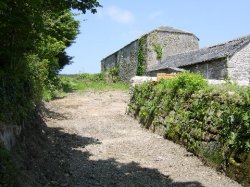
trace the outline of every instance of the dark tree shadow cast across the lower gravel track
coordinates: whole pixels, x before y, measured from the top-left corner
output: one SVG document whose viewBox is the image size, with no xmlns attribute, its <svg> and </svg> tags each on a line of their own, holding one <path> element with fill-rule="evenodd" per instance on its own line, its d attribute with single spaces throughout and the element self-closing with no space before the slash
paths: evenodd
<svg viewBox="0 0 250 187">
<path fill-rule="evenodd" d="M 202 187 L 197 181 L 174 182 L 157 169 L 136 162 L 120 163 L 114 158 L 91 160 L 87 145 L 97 139 L 49 128 L 40 118 L 27 128 L 14 149 L 18 163 L 18 186 L 70 187 Z"/>
</svg>

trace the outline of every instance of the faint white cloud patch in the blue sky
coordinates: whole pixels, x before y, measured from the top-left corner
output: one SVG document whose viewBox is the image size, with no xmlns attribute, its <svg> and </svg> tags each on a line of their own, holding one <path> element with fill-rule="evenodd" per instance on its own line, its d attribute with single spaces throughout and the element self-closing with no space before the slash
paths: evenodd
<svg viewBox="0 0 250 187">
<path fill-rule="evenodd" d="M 120 9 L 116 6 L 110 6 L 107 9 L 108 16 L 121 24 L 131 24 L 134 22 L 134 15 L 128 10 Z"/>
</svg>

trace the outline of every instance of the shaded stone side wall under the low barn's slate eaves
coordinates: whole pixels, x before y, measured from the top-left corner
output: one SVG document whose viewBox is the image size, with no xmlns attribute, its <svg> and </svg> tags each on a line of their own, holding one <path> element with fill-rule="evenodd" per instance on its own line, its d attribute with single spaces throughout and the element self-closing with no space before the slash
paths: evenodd
<svg viewBox="0 0 250 187">
<path fill-rule="evenodd" d="M 224 80 L 227 78 L 227 59 L 217 59 L 181 67 L 194 73 L 201 73 L 206 79 Z"/>
</svg>

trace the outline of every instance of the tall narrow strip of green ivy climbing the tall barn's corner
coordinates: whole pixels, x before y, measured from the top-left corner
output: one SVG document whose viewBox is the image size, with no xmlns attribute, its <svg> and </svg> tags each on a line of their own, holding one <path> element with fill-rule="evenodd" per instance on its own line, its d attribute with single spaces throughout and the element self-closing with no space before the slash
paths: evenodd
<svg viewBox="0 0 250 187">
<path fill-rule="evenodd" d="M 144 75 L 145 70 L 146 70 L 145 43 L 146 43 L 146 39 L 145 39 L 145 36 L 143 36 L 139 39 L 139 43 L 138 43 L 138 56 L 137 56 L 138 64 L 137 64 L 137 70 L 136 70 L 136 75 L 138 76 Z"/>
</svg>

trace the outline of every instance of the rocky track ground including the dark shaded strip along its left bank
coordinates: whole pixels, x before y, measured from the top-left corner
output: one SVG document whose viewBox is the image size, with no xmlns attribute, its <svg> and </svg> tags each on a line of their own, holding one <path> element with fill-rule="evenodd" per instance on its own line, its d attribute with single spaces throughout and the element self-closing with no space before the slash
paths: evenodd
<svg viewBox="0 0 250 187">
<path fill-rule="evenodd" d="M 125 114 L 125 92 L 70 94 L 14 150 L 23 187 L 240 186 Z M 32 135 L 31 135 L 32 134 Z"/>
</svg>

